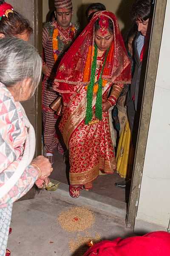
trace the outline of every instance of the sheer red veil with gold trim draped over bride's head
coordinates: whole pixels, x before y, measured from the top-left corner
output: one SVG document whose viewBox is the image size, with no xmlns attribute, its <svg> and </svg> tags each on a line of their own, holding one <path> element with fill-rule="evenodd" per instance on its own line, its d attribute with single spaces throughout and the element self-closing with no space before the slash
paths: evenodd
<svg viewBox="0 0 170 256">
<path fill-rule="evenodd" d="M 116 16 L 111 12 L 102 11 L 94 14 L 91 22 L 62 58 L 54 80 L 54 90 L 62 94 L 72 94 L 90 82 L 94 48 L 94 23 L 102 16 L 108 17 L 113 22 L 114 35 L 102 73 L 102 79 L 111 82 L 111 84 L 130 83 L 130 61 Z"/>
</svg>

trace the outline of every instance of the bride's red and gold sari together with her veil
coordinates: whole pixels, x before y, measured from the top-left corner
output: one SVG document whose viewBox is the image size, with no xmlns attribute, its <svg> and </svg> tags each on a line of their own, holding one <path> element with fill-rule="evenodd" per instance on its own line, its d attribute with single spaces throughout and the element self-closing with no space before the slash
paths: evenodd
<svg viewBox="0 0 170 256">
<path fill-rule="evenodd" d="M 85 125 L 87 86 L 94 57 L 94 23 L 102 16 L 111 19 L 114 27 L 114 39 L 102 71 L 102 102 L 114 102 L 123 85 L 130 83 L 130 61 L 116 17 L 111 12 L 97 12 L 62 58 L 54 80 L 54 90 L 62 95 L 63 100 L 59 128 L 69 149 L 71 185 L 91 183 L 99 175 L 99 170 L 113 173 L 116 169 L 109 113 L 103 112 L 102 120 L 96 122 L 93 117 L 91 125 Z M 101 69 L 102 65 L 103 60 L 98 68 Z M 109 92 L 111 95 L 108 96 Z M 95 102 L 94 93 L 93 111 Z"/>
</svg>

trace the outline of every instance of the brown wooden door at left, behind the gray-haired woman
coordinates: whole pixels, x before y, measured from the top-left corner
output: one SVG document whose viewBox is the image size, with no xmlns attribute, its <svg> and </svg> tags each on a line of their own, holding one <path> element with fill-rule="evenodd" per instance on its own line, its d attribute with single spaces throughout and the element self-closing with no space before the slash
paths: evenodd
<svg viewBox="0 0 170 256">
<path fill-rule="evenodd" d="M 26 0 L 8 0 L 14 10 L 22 14 L 27 18 L 33 28 L 33 35 L 29 40 L 30 44 L 33 44 L 42 53 L 42 0 L 31 0 L 29 4 Z M 28 6 L 27 6 L 28 4 Z M 41 117 L 41 88 L 42 82 L 40 82 L 38 89 L 34 96 L 23 102 L 23 107 L 26 110 L 27 116 L 34 126 L 36 133 L 36 150 L 35 156 L 41 154 L 41 134 L 42 134 L 42 117 Z M 29 110 L 31 108 L 31 110 Z"/>
</svg>

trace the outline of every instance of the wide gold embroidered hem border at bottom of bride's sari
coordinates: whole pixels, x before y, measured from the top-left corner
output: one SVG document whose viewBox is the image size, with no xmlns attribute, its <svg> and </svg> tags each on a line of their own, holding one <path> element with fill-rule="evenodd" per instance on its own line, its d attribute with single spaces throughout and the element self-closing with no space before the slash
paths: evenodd
<svg viewBox="0 0 170 256">
<path fill-rule="evenodd" d="M 99 176 L 99 165 L 94 166 L 93 169 L 83 173 L 70 173 L 71 185 L 84 185 L 90 183 Z"/>
</svg>

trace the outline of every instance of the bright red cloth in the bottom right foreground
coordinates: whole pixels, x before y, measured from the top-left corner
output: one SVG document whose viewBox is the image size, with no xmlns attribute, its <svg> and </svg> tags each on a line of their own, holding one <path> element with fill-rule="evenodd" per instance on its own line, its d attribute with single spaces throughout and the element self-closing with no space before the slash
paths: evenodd
<svg viewBox="0 0 170 256">
<path fill-rule="evenodd" d="M 84 256 L 170 256 L 170 233 L 158 231 L 144 236 L 102 241 Z"/>
</svg>

